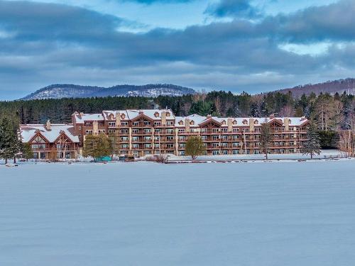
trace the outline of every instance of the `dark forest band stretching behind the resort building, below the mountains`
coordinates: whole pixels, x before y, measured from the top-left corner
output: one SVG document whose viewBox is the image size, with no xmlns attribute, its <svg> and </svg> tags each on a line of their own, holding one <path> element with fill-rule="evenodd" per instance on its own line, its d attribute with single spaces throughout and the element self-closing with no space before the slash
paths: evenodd
<svg viewBox="0 0 355 266">
<path fill-rule="evenodd" d="M 185 96 L 102 97 L 86 99 L 43 99 L 0 101 L 1 115 L 16 116 L 20 123 L 70 122 L 75 111 L 101 113 L 102 110 L 151 109 L 168 107 L 178 116 L 191 113 L 214 116 L 307 116 L 320 129 L 337 130 L 354 126 L 355 99 L 347 94 L 302 95 L 272 92 L 251 96 L 231 92 L 209 92 Z"/>
</svg>

